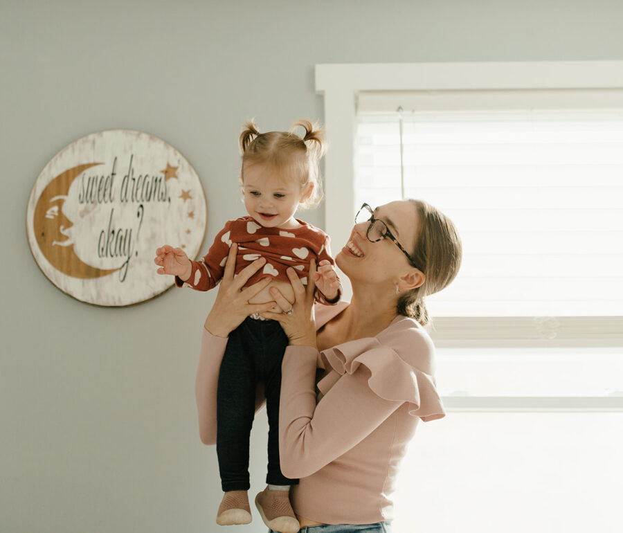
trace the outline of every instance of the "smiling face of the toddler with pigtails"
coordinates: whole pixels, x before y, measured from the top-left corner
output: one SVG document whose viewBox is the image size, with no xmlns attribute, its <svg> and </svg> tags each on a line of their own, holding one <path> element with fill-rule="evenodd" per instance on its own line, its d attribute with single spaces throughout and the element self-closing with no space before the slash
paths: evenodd
<svg viewBox="0 0 623 533">
<path fill-rule="evenodd" d="M 295 228 L 294 213 L 305 191 L 296 179 L 284 179 L 264 165 L 244 169 L 244 206 L 266 228 Z"/>
</svg>

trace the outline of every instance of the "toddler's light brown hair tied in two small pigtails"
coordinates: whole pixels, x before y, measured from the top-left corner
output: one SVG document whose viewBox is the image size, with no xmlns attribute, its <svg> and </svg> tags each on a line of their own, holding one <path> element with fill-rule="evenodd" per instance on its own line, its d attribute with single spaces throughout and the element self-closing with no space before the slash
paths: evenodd
<svg viewBox="0 0 623 533">
<path fill-rule="evenodd" d="M 292 132 L 303 127 L 305 135 L 300 137 Z M 282 179 L 296 179 L 301 188 L 310 183 L 311 194 L 300 204 L 302 208 L 312 208 L 320 204 L 323 190 L 320 183 L 318 161 L 326 150 L 325 132 L 317 123 L 307 119 L 298 120 L 288 132 L 266 132 L 261 134 L 253 120 L 244 125 L 240 134 L 242 150 L 242 170 L 240 185 L 244 185 L 244 170 L 251 165 L 267 165 Z"/>
</svg>

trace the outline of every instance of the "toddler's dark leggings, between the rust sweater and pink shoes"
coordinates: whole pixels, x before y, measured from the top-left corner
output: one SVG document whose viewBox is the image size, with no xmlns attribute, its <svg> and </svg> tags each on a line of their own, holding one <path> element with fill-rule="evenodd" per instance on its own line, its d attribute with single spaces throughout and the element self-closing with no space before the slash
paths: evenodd
<svg viewBox="0 0 623 533">
<path fill-rule="evenodd" d="M 249 490 L 249 435 L 255 388 L 264 382 L 269 421 L 269 485 L 295 485 L 279 462 L 281 361 L 288 338 L 276 320 L 247 317 L 229 334 L 217 390 L 217 455 L 223 491 Z"/>
</svg>

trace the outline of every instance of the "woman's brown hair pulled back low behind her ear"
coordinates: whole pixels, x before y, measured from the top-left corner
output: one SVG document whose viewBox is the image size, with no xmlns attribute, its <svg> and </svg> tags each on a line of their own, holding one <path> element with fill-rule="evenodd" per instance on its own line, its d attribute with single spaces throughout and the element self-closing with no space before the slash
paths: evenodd
<svg viewBox="0 0 623 533">
<path fill-rule="evenodd" d="M 426 280 L 400 296 L 398 314 L 414 318 L 424 326 L 430 321 L 424 297 L 444 289 L 456 277 L 461 266 L 462 244 L 453 222 L 440 210 L 422 200 L 408 201 L 419 215 L 411 257 Z"/>
</svg>

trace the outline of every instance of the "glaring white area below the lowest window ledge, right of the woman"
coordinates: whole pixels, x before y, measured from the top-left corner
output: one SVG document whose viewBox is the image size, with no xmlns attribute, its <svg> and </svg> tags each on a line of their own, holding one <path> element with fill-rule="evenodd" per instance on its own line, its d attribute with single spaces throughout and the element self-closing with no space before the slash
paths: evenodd
<svg viewBox="0 0 623 533">
<path fill-rule="evenodd" d="M 623 413 L 451 413 L 422 423 L 394 533 L 620 531 Z"/>
</svg>

